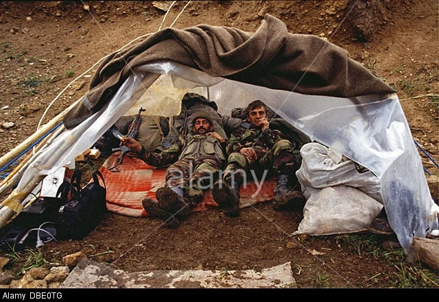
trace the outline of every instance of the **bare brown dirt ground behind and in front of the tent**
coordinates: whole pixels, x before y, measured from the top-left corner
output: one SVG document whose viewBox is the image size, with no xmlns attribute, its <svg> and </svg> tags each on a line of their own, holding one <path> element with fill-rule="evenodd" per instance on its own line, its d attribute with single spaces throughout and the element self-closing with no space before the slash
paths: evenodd
<svg viewBox="0 0 439 302">
<path fill-rule="evenodd" d="M 2 1 L 0 155 L 36 131 L 49 103 L 73 79 L 86 71 L 93 75 L 88 69 L 95 62 L 135 38 L 171 25 L 201 23 L 252 32 L 269 13 L 281 18 L 289 32 L 328 38 L 394 86 L 414 139 L 437 162 L 439 3 L 375 2 L 384 5 L 375 11 L 379 21 L 370 29 L 355 23 L 360 14 L 349 1 L 176 1 L 168 14 L 152 1 Z M 350 16 L 356 12 L 356 18 Z M 42 124 L 86 93 L 86 76 L 62 92 Z M 423 152 L 420 156 L 429 173 L 438 175 L 435 164 Z M 276 212 L 262 203 L 238 218 L 219 210 L 197 212 L 178 229 L 166 229 L 155 219 L 108 213 L 84 240 L 50 242 L 41 251 L 51 262 L 83 251 L 129 272 L 260 270 L 291 262 L 300 288 L 390 288 L 398 281 L 396 266 L 349 243 L 352 236 L 363 236 L 382 249 L 383 236 L 290 237 L 301 217 L 300 208 Z"/>
</svg>

